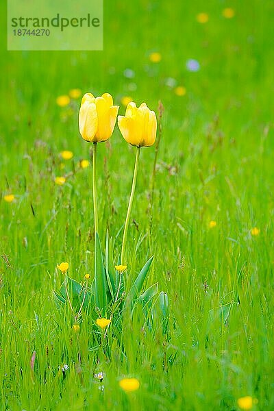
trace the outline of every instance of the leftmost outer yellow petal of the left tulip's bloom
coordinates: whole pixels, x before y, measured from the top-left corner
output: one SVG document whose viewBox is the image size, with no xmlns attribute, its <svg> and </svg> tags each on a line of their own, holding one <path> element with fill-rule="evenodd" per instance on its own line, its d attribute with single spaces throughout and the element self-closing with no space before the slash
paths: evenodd
<svg viewBox="0 0 274 411">
<path fill-rule="evenodd" d="M 84 140 L 94 142 L 98 126 L 98 116 L 95 103 L 85 101 L 79 110 L 79 131 Z"/>
</svg>

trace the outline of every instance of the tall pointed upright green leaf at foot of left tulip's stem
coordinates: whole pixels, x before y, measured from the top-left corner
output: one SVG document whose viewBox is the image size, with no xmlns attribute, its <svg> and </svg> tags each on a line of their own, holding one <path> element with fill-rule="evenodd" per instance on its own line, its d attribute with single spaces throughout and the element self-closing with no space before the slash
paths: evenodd
<svg viewBox="0 0 274 411">
<path fill-rule="evenodd" d="M 98 233 L 95 238 L 95 305 L 103 310 L 108 304 L 107 279 L 103 266 L 103 253 Z"/>
</svg>

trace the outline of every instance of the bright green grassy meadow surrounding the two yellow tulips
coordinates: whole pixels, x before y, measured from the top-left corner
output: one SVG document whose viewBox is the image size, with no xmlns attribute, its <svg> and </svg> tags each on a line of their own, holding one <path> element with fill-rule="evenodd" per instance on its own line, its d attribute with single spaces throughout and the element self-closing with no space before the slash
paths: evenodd
<svg viewBox="0 0 274 411">
<path fill-rule="evenodd" d="M 105 0 L 102 52 L 7 52 L 2 34 L 1 410 L 232 411 L 251 409 L 246 396 L 274 409 L 273 11 L 271 0 Z M 88 309 L 75 331 L 53 298 L 60 262 L 80 283 L 94 276 L 92 145 L 81 97 L 56 103 L 75 88 L 110 92 L 119 114 L 123 97 L 164 106 L 153 201 L 155 146 L 140 154 L 127 276 L 154 256 L 146 286 L 168 295 L 168 324 L 125 312 L 105 349 Z M 98 146 L 99 235 L 103 251 L 113 236 L 115 262 L 134 155 L 117 126 Z M 125 393 L 125 377 L 140 388 Z"/>
</svg>

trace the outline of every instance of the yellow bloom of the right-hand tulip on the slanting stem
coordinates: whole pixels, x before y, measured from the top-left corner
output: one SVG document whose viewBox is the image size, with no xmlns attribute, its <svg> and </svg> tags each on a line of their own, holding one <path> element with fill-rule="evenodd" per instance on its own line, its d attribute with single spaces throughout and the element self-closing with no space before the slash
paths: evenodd
<svg viewBox="0 0 274 411">
<path fill-rule="evenodd" d="M 154 144 L 157 131 L 155 112 L 149 110 L 146 103 L 139 108 L 129 103 L 125 116 L 118 116 L 118 125 L 123 138 L 136 147 L 149 147 Z"/>
</svg>

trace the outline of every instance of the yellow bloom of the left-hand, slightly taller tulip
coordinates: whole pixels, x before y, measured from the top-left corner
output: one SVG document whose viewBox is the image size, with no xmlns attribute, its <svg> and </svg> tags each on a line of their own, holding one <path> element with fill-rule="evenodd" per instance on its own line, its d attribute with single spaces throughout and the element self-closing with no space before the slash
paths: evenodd
<svg viewBox="0 0 274 411">
<path fill-rule="evenodd" d="M 79 131 L 88 142 L 103 142 L 113 133 L 119 105 L 113 105 L 112 96 L 104 93 L 94 97 L 90 92 L 82 98 L 79 110 Z"/>
</svg>

